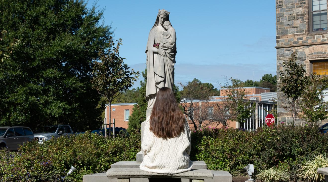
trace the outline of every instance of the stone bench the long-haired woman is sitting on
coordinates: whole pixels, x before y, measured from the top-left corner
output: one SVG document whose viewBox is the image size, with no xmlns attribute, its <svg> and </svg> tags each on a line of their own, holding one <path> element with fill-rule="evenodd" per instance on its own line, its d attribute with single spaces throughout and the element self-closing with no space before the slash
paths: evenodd
<svg viewBox="0 0 328 182">
<path fill-rule="evenodd" d="M 117 178 L 117 182 L 130 182 L 130 178 L 187 178 L 192 182 L 213 179 L 213 173 L 207 169 L 193 169 L 177 174 L 159 174 L 142 171 L 138 168 L 111 168 L 106 175 L 108 178 Z"/>
</svg>

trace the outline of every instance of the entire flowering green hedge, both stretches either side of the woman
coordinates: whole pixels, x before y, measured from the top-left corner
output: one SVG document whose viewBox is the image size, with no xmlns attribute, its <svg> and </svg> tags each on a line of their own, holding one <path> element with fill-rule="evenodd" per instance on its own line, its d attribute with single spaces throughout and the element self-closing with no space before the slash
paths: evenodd
<svg viewBox="0 0 328 182">
<path fill-rule="evenodd" d="M 43 145 L 29 142 L 18 152 L 0 150 L 0 181 L 82 181 L 83 175 L 106 171 L 121 160 L 135 160 L 140 151 L 140 133 L 115 139 L 85 133 L 59 137 Z M 244 175 L 254 164 L 256 171 L 273 166 L 290 172 L 291 180 L 299 165 L 310 156 L 327 153 L 328 134 L 318 126 L 279 125 L 243 132 L 210 129 L 192 132 L 192 160 L 204 160 L 211 170 Z M 77 171 L 65 174 L 74 166 Z"/>
</svg>

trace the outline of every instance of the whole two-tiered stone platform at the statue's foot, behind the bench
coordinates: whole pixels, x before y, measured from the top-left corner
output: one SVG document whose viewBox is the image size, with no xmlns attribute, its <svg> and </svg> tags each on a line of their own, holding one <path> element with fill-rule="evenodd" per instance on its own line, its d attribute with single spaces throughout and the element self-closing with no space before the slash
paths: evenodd
<svg viewBox="0 0 328 182">
<path fill-rule="evenodd" d="M 140 162 L 136 161 L 119 161 L 111 165 L 115 170 L 126 170 L 127 168 L 139 169 Z M 204 161 L 193 161 L 193 170 L 206 170 L 207 166 Z M 205 179 L 205 182 L 232 182 L 232 175 L 227 171 L 211 171 L 213 179 Z M 181 182 L 189 182 L 190 179 L 182 178 Z M 117 182 L 117 178 L 109 179 L 106 172 L 88 174 L 83 176 L 83 182 Z M 148 178 L 130 178 L 130 182 L 149 182 Z"/>
</svg>

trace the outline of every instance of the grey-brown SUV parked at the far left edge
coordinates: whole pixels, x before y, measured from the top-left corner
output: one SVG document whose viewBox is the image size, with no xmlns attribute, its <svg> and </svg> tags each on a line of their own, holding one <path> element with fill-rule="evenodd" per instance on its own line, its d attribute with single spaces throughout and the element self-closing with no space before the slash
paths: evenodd
<svg viewBox="0 0 328 182">
<path fill-rule="evenodd" d="M 0 127 L 0 147 L 8 147 L 9 150 L 17 150 L 34 139 L 34 134 L 29 127 L 24 126 L 2 126 Z"/>
</svg>

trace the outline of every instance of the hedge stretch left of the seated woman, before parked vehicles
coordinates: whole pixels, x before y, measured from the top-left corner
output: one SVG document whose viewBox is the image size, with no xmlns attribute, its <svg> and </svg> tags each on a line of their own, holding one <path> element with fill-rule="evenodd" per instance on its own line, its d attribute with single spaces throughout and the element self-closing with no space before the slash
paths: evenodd
<svg viewBox="0 0 328 182">
<path fill-rule="evenodd" d="M 19 151 L 0 150 L 0 181 L 82 181 L 83 175 L 100 173 L 121 160 L 135 160 L 140 133 L 105 138 L 86 132 L 51 139 L 40 145 L 28 142 Z M 70 166 L 77 171 L 70 176 Z"/>
</svg>

